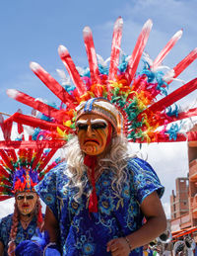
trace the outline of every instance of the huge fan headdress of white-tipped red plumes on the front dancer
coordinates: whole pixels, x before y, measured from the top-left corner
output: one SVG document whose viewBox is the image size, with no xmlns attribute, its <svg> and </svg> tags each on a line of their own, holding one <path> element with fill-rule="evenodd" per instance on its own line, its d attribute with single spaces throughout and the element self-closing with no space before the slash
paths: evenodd
<svg viewBox="0 0 197 256">
<path fill-rule="evenodd" d="M 130 56 L 120 51 L 122 26 L 123 21 L 119 17 L 114 25 L 109 66 L 96 54 L 89 27 L 83 31 L 89 69 L 77 68 L 68 49 L 63 45 L 59 46 L 59 55 L 74 86 L 70 85 L 67 79 L 64 88 L 39 64 L 32 62 L 31 68 L 34 74 L 61 100 L 62 104 L 59 108 L 52 107 L 27 94 L 10 89 L 7 91 L 10 97 L 33 107 L 45 117 L 41 120 L 17 113 L 14 120 L 21 124 L 50 130 L 49 136 L 64 137 L 68 140 L 75 132 L 77 115 L 89 109 L 99 111 L 111 119 L 111 124 L 114 123 L 114 126 L 120 125 L 118 131 L 121 130 L 129 141 L 150 143 L 197 140 L 197 132 L 188 131 L 184 122 L 180 122 L 197 116 L 197 108 L 181 111 L 176 105 L 172 107 L 172 104 L 197 88 L 197 78 L 167 95 L 169 84 L 197 58 L 197 48 L 175 67 L 164 72 L 166 68 L 162 65 L 164 57 L 181 38 L 182 31 L 178 31 L 154 61 L 145 55 L 144 68 L 139 71 L 137 68 L 152 29 L 152 21 L 148 20 L 144 25 Z M 94 98 L 106 99 L 115 107 L 118 114 L 115 114 L 109 104 L 106 107 L 105 101 Z M 111 117 L 109 117 L 110 108 Z M 113 114 L 116 116 L 114 120 Z"/>
</svg>

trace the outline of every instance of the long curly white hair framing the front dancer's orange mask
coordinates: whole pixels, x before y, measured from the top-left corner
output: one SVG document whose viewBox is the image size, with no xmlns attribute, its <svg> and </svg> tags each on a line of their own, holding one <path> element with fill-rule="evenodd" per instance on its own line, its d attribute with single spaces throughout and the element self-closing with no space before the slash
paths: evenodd
<svg viewBox="0 0 197 256">
<path fill-rule="evenodd" d="M 124 136 L 113 136 L 108 152 L 105 154 L 104 158 L 99 159 L 98 162 L 99 173 L 103 170 L 108 170 L 113 173 L 114 179 L 111 187 L 117 192 L 117 195 L 121 193 L 122 184 L 127 183 L 125 168 L 127 166 L 127 159 L 131 157 L 128 155 L 127 145 L 128 142 Z M 88 176 L 84 176 L 84 173 L 87 171 L 87 166 L 84 164 L 85 154 L 80 148 L 77 135 L 67 143 L 64 152 L 67 162 L 65 173 L 70 178 L 69 184 L 65 185 L 65 190 L 67 190 L 67 186 L 78 188 L 78 192 L 75 195 L 75 200 L 78 201 L 84 193 Z M 87 178 L 84 179 L 84 177 Z M 89 195 L 90 193 L 91 192 L 89 192 Z"/>
</svg>

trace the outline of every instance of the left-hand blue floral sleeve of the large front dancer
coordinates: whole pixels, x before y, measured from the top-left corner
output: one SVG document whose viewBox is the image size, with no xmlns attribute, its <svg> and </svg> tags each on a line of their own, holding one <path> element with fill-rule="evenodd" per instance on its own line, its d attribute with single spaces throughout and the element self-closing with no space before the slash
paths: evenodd
<svg viewBox="0 0 197 256">
<path fill-rule="evenodd" d="M 60 164 L 50 170 L 44 178 L 34 187 L 35 192 L 40 199 L 46 204 L 52 211 L 56 219 L 59 219 L 61 197 L 58 195 L 58 189 L 61 180 L 62 170 L 64 170 L 65 164 Z M 62 179 L 63 180 L 63 179 Z"/>
</svg>

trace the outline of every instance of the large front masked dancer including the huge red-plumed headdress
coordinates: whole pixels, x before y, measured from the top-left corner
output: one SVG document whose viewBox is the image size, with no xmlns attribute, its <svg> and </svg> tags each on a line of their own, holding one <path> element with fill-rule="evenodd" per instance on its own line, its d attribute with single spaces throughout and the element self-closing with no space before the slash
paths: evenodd
<svg viewBox="0 0 197 256">
<path fill-rule="evenodd" d="M 164 187 L 146 161 L 128 154 L 127 142 L 197 138 L 196 132 L 180 133 L 177 125 L 167 128 L 171 122 L 196 115 L 196 109 L 180 115 L 177 109 L 167 110 L 197 88 L 196 79 L 166 96 L 168 84 L 196 58 L 196 50 L 171 72 L 161 72 L 164 56 L 180 38 L 180 31 L 155 61 L 146 55 L 143 70 L 136 73 L 152 21 L 144 25 L 131 56 L 122 54 L 119 62 L 122 24 L 119 17 L 109 67 L 97 56 L 88 27 L 83 34 L 90 69 L 77 69 L 68 49 L 59 46 L 74 86 L 66 79 L 63 88 L 40 65 L 31 63 L 33 72 L 65 104 L 59 110 L 17 90 L 7 91 L 12 98 L 50 115 L 53 124 L 40 124 L 58 126 L 57 136 L 68 140 L 65 163 L 35 187 L 47 205 L 44 228 L 51 242 L 60 244 L 62 255 L 142 255 L 142 246 L 165 229 L 160 201 Z M 158 95 L 164 98 L 158 100 Z M 35 126 L 38 119 L 32 118 L 33 122 Z"/>
</svg>

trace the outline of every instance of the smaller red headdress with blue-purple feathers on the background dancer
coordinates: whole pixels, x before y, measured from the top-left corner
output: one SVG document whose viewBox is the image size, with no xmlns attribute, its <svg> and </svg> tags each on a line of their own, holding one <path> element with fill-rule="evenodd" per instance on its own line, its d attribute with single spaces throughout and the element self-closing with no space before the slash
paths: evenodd
<svg viewBox="0 0 197 256">
<path fill-rule="evenodd" d="M 1 128 L 6 137 L 0 141 L 0 201 L 3 201 L 18 192 L 33 191 L 33 187 L 60 161 L 56 159 L 48 164 L 62 144 L 51 147 L 47 141 L 34 141 L 32 136 L 29 140 L 24 136 L 11 140 L 12 121 L 9 118 L 2 122 L 2 116 Z M 18 125 L 18 131 L 22 134 L 23 127 Z"/>
</svg>

